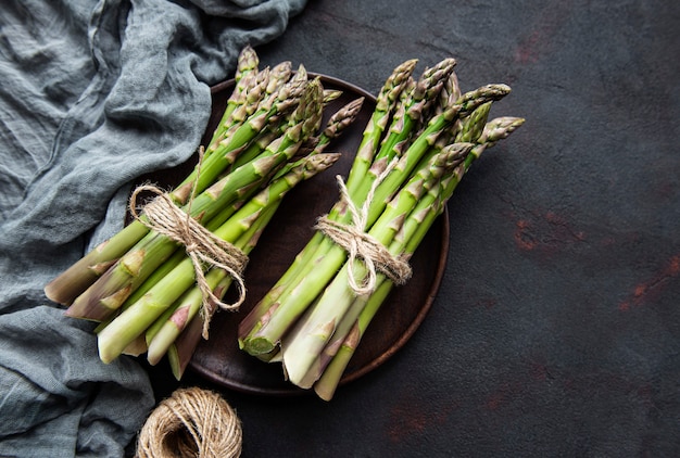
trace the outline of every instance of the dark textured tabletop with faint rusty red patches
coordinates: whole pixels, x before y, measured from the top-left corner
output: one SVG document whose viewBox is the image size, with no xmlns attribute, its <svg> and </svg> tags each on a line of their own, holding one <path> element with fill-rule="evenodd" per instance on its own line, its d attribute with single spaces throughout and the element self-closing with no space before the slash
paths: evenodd
<svg viewBox="0 0 680 458">
<path fill-rule="evenodd" d="M 527 123 L 456 191 L 443 284 L 393 358 L 330 403 L 223 391 L 243 455 L 678 456 L 678 24 L 659 0 L 323 0 L 257 49 L 372 93 L 454 56 Z"/>
</svg>

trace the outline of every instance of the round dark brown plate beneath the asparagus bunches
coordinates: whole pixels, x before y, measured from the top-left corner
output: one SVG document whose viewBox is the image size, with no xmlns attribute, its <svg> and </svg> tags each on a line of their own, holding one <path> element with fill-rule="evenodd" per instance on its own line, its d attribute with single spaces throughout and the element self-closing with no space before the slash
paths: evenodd
<svg viewBox="0 0 680 458">
<path fill-rule="evenodd" d="M 361 88 L 324 75 L 311 76 L 320 77 L 326 89 L 342 91 L 342 96 L 327 110 L 329 113 L 358 97 L 364 97 L 365 101 L 353 126 L 327 150 L 342 153 L 342 158 L 330 169 L 299 185 L 286 196 L 256 249 L 251 253 L 245 271 L 248 296 L 241 309 L 238 313 L 215 314 L 211 322 L 210 339 L 201 341 L 189 364 L 190 370 L 211 382 L 240 392 L 265 395 L 305 393 L 284 379 L 280 364 L 263 362 L 239 349 L 237 327 L 306 244 L 313 234 L 311 228 L 316 218 L 326 214 L 338 200 L 335 177 L 339 174 L 347 177 L 363 129 L 375 107 L 375 97 Z M 232 87 L 234 81 L 230 80 L 213 88 L 213 114 L 206 137 L 215 129 Z M 203 144 L 206 141 L 210 139 L 204 139 Z M 190 161 L 184 169 L 164 174 L 165 181 L 174 185 L 172 181 L 176 178 L 178 182 L 194 163 L 196 161 Z M 382 305 L 350 361 L 341 384 L 366 374 L 390 358 L 408 341 L 427 315 L 446 262 L 448 221 L 448 214 L 442 215 L 421 242 L 411 260 L 414 272 L 412 279 L 406 285 L 394 289 Z"/>
</svg>

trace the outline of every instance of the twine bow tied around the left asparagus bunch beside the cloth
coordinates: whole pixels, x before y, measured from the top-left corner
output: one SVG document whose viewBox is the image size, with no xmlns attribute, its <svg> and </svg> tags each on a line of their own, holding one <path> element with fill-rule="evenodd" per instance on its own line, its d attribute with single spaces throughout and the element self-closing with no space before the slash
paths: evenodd
<svg viewBox="0 0 680 458">
<path fill-rule="evenodd" d="M 200 169 L 203 160 L 203 149 L 199 152 L 199 168 L 193 181 L 191 195 L 187 209 L 182 211 L 169 195 L 162 189 L 152 185 L 142 185 L 135 189 L 129 200 L 129 211 L 135 219 L 171 240 L 185 246 L 187 255 L 191 259 L 196 273 L 196 282 L 201 290 L 203 314 L 203 339 L 207 339 L 210 320 L 216 306 L 224 310 L 238 309 L 245 301 L 245 282 L 243 270 L 248 265 L 248 256 L 231 243 L 218 238 L 213 232 L 201 226 L 191 217 L 191 204 L 196 193 L 196 183 L 199 181 Z M 149 191 L 156 196 L 144 205 L 144 220 L 137 211 L 137 199 L 143 191 Z M 203 266 L 209 265 L 225 270 L 236 282 L 239 296 L 231 304 L 224 303 L 217 297 L 205 280 Z"/>
</svg>

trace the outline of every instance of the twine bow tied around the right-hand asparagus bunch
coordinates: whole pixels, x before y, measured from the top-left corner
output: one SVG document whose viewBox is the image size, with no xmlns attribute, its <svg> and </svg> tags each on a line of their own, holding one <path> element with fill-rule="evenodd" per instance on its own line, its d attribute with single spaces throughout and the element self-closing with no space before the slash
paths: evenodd
<svg viewBox="0 0 680 458">
<path fill-rule="evenodd" d="M 361 208 L 357 208 L 350 198 L 350 192 L 342 177 L 337 176 L 340 199 L 348 205 L 352 214 L 352 222 L 345 225 L 328 219 L 327 216 L 322 216 L 315 226 L 315 229 L 320 230 L 348 252 L 348 281 L 356 295 L 370 294 L 375 291 L 378 271 L 387 276 L 394 284 L 404 284 L 412 275 L 411 266 L 407 262 L 400 256 L 392 255 L 382 243 L 366 232 L 368 209 L 376 189 L 395 165 L 396 160 L 392 161 L 374 180 Z M 367 270 L 367 275 L 361 284 L 356 281 L 354 266 L 356 259 L 362 259 Z"/>
</svg>

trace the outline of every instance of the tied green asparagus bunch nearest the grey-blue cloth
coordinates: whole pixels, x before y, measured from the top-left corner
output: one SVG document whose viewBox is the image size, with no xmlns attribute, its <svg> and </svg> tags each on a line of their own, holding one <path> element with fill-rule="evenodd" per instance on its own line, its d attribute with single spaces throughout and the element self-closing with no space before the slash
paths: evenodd
<svg viewBox="0 0 680 458">
<path fill-rule="evenodd" d="M 248 254 L 284 196 L 337 161 L 338 154 L 324 151 L 354 120 L 363 98 L 326 113 L 338 93 L 325 90 L 303 65 L 259 66 L 257 54 L 245 47 L 224 115 L 196 168 L 152 202 L 169 201 L 184 217 L 158 226 L 160 218 L 144 206 L 46 287 L 49 298 L 67 306 L 67 316 L 100 323 L 104 362 L 146 352 L 154 365 L 167 355 L 179 379 L 201 336 L 207 339 L 212 314 L 242 302 Z M 328 119 L 324 126 L 323 119 Z M 166 226 L 174 225 L 188 239 L 167 233 Z M 217 259 L 201 250 L 192 255 L 196 240 L 209 253 L 216 246 Z M 234 262 L 225 264 L 229 251 L 234 256 L 227 262 Z M 235 281 L 241 282 L 240 298 L 225 304 Z"/>
</svg>

